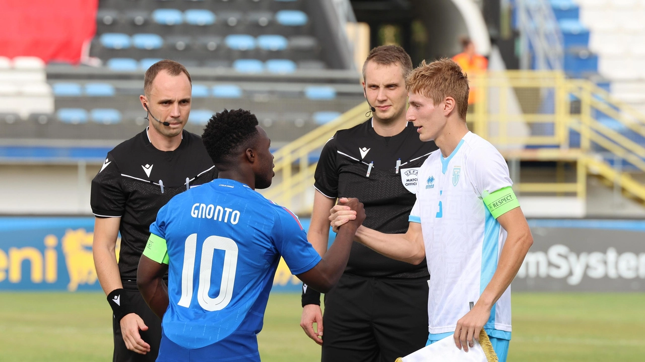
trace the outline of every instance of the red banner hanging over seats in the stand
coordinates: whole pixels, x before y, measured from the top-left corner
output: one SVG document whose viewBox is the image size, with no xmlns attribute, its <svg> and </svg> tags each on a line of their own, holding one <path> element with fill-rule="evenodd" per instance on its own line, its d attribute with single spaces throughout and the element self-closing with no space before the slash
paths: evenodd
<svg viewBox="0 0 645 362">
<path fill-rule="evenodd" d="M 0 56 L 81 60 L 96 32 L 98 0 L 0 0 Z"/>
</svg>

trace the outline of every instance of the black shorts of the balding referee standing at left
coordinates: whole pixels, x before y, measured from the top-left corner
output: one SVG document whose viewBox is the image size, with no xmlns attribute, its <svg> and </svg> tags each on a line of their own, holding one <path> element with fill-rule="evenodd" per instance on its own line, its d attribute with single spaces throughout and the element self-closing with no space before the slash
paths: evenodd
<svg viewBox="0 0 645 362">
<path fill-rule="evenodd" d="M 134 307 L 134 312 L 143 319 L 143 323 L 148 326 L 148 330 L 139 330 L 141 339 L 150 345 L 150 352 L 147 354 L 138 354 L 128 350 L 123 341 L 121 334 L 121 323 L 112 318 L 112 329 L 114 330 L 114 354 L 112 355 L 113 362 L 154 362 L 159 354 L 159 343 L 161 343 L 161 319 L 148 307 L 143 296 L 137 289 L 136 283 L 123 282 L 123 289 L 125 290 L 128 300 Z"/>
</svg>

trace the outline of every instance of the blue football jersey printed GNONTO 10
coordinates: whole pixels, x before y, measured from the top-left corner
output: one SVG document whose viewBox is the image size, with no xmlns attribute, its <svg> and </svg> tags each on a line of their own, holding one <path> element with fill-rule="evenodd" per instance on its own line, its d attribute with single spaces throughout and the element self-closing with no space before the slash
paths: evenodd
<svg viewBox="0 0 645 362">
<path fill-rule="evenodd" d="M 257 354 L 281 256 L 293 274 L 321 260 L 291 211 L 224 178 L 172 198 L 150 233 L 166 245 L 156 260 L 168 263 L 164 336 L 188 350 L 219 343 L 220 359 Z"/>
</svg>

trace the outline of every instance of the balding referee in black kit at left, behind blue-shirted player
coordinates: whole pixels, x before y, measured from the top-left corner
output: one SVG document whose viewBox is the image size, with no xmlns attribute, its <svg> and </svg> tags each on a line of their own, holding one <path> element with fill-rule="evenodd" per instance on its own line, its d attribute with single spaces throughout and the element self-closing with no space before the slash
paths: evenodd
<svg viewBox="0 0 645 362">
<path fill-rule="evenodd" d="M 92 180 L 94 263 L 114 311 L 113 361 L 157 359 L 161 319 L 146 305 L 136 280 L 148 227 L 173 196 L 217 178 L 201 138 L 184 131 L 191 92 L 190 74 L 178 62 L 148 68 L 139 97 L 150 116 L 148 128 L 112 149 Z"/>
</svg>

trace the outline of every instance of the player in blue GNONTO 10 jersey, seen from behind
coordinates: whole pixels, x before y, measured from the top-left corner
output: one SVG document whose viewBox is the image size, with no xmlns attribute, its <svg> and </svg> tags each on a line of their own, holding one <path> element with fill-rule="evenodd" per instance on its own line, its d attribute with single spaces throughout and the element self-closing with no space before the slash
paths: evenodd
<svg viewBox="0 0 645 362">
<path fill-rule="evenodd" d="M 219 178 L 159 210 L 139 262 L 139 290 L 163 318 L 157 362 L 260 361 L 256 335 L 280 257 L 309 287 L 328 292 L 365 213 L 353 199 L 359 217 L 321 258 L 297 217 L 255 191 L 269 187 L 274 173 L 271 141 L 254 115 L 217 113 L 203 142 Z"/>
</svg>

